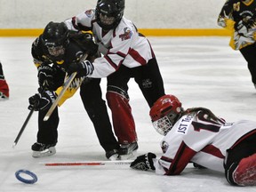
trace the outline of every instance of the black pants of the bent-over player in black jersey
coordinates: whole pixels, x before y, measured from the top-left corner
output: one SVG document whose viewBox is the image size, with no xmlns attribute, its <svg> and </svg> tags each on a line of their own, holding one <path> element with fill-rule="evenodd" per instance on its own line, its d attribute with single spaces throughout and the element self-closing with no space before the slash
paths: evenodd
<svg viewBox="0 0 256 192">
<path fill-rule="evenodd" d="M 92 120 L 101 147 L 105 151 L 119 148 L 109 121 L 105 101 L 101 97 L 100 79 L 88 79 L 81 85 L 80 95 L 84 103 L 84 108 Z M 58 141 L 57 129 L 59 124 L 58 108 L 55 108 L 49 120 L 44 122 L 43 119 L 46 112 L 47 110 L 39 111 L 37 142 L 56 144 Z M 86 124 L 84 124 L 84 131 L 86 127 Z"/>
</svg>

